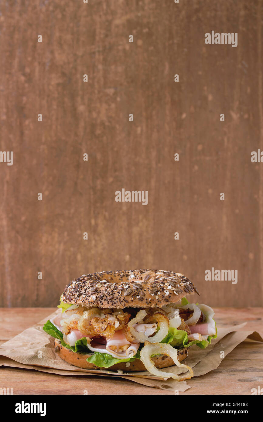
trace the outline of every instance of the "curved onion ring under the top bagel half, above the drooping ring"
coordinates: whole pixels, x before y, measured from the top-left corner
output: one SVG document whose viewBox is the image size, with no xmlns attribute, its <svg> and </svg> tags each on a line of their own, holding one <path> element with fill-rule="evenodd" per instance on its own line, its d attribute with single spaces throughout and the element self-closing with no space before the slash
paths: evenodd
<svg viewBox="0 0 263 422">
<path fill-rule="evenodd" d="M 163 320 L 158 321 L 160 330 L 153 337 L 147 337 L 144 333 L 138 333 L 138 331 L 136 331 L 133 328 L 133 325 L 136 324 L 136 322 L 142 322 L 145 316 L 146 316 L 146 311 L 141 309 L 141 311 L 139 311 L 136 314 L 136 317 L 131 319 L 130 322 L 128 322 L 127 327 L 130 330 L 131 335 L 140 343 L 145 343 L 145 341 L 149 341 L 150 343 L 158 343 L 159 341 L 162 341 L 163 338 L 165 338 L 165 336 L 168 334 L 168 329 L 169 329 L 168 318 L 165 317 L 165 315 L 163 314 L 156 313 L 154 315 L 156 319 L 163 318 Z"/>
</svg>

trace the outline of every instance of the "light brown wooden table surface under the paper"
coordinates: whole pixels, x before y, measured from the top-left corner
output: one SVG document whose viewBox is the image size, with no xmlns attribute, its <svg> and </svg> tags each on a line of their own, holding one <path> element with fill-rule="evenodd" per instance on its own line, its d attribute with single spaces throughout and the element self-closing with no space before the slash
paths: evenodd
<svg viewBox="0 0 263 422">
<path fill-rule="evenodd" d="M 51 314 L 54 308 L 0 308 L 0 344 Z M 247 321 L 245 330 L 262 335 L 263 308 L 215 308 L 218 326 Z M 253 354 L 252 354 L 253 352 Z M 210 373 L 187 381 L 188 394 L 251 394 L 263 385 L 263 344 L 246 340 L 230 352 Z M 144 387 L 132 381 L 89 376 L 59 376 L 34 370 L 0 368 L 0 387 L 13 388 L 14 394 L 173 394 Z"/>
</svg>

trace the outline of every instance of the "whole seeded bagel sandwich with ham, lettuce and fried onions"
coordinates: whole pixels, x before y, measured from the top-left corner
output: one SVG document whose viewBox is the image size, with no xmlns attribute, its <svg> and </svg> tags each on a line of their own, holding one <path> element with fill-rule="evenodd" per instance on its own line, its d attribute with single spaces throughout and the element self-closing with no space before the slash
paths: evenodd
<svg viewBox="0 0 263 422">
<path fill-rule="evenodd" d="M 184 274 L 172 271 L 87 274 L 65 287 L 43 330 L 55 338 L 58 356 L 79 368 L 147 370 L 182 381 L 193 376 L 181 363 L 190 346 L 204 349 L 217 336 L 213 309 L 186 299 L 195 293 Z M 174 364 L 187 372 L 160 371 Z"/>
</svg>

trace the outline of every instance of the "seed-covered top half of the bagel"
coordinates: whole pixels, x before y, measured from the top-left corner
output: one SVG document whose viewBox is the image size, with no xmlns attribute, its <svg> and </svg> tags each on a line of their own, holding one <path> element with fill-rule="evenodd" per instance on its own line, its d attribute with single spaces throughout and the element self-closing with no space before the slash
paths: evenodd
<svg viewBox="0 0 263 422">
<path fill-rule="evenodd" d="M 87 308 L 160 308 L 195 293 L 199 295 L 181 273 L 149 269 L 102 271 L 70 281 L 62 300 Z"/>
</svg>

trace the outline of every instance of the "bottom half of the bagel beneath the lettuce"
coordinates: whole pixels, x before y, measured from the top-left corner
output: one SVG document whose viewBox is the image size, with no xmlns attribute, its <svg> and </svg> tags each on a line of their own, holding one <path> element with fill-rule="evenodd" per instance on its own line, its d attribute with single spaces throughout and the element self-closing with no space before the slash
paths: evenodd
<svg viewBox="0 0 263 422">
<path fill-rule="evenodd" d="M 120 362 L 116 363 L 115 365 L 112 365 L 110 368 L 100 368 L 93 363 L 87 362 L 87 358 L 91 355 L 91 353 L 84 353 L 84 352 L 72 352 L 72 350 L 68 349 L 67 347 L 62 346 L 60 343 L 60 340 L 55 338 L 54 341 L 55 346 L 55 352 L 58 354 L 58 356 L 65 360 L 65 362 L 70 363 L 71 365 L 78 366 L 79 368 L 83 369 L 107 369 L 109 371 L 117 371 L 121 370 L 124 372 L 128 371 L 146 371 L 146 368 L 141 362 L 140 359 L 135 359 L 133 362 L 129 362 L 130 366 L 126 366 L 127 362 Z M 182 362 L 188 355 L 187 349 L 178 349 L 178 360 L 179 362 Z M 165 355 L 158 355 L 153 356 L 152 360 L 155 362 L 155 366 L 158 369 L 161 368 L 168 368 L 168 366 L 173 366 L 174 361 L 170 356 Z"/>
</svg>

